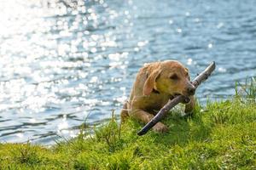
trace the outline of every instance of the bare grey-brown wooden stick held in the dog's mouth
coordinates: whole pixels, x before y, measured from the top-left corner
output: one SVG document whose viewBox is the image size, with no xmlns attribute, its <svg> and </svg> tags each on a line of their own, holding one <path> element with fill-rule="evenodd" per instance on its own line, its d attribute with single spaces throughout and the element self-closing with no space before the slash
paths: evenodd
<svg viewBox="0 0 256 170">
<path fill-rule="evenodd" d="M 198 75 L 197 77 L 195 77 L 194 81 L 192 82 L 193 85 L 195 86 L 195 88 L 197 88 L 201 82 L 204 82 L 207 80 L 208 77 L 211 76 L 212 71 L 215 70 L 215 62 L 213 61 L 209 66 L 207 66 L 207 69 L 205 71 L 202 71 L 200 75 Z M 181 103 L 181 102 L 189 102 L 189 98 L 183 95 L 178 95 L 177 97 L 175 97 L 172 100 L 169 100 L 167 102 L 166 105 L 164 105 L 164 107 L 162 107 L 160 109 L 160 111 L 154 116 L 154 118 L 148 122 L 138 133 L 137 135 L 143 135 L 145 133 L 148 132 L 148 130 L 152 127 L 154 127 L 154 125 L 157 122 L 160 122 L 160 120 L 162 120 L 162 118 L 164 116 L 166 116 L 166 114 L 168 113 L 168 111 L 170 111 L 175 105 Z"/>
</svg>

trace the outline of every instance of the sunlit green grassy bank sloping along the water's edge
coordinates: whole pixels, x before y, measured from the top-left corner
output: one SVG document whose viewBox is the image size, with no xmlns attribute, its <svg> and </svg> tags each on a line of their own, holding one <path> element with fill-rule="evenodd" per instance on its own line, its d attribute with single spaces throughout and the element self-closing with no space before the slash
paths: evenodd
<svg viewBox="0 0 256 170">
<path fill-rule="evenodd" d="M 246 91 L 249 90 L 249 91 Z M 172 113 L 170 132 L 148 132 L 128 121 L 111 121 L 88 136 L 50 149 L 33 144 L 0 144 L 0 169 L 256 169 L 255 89 L 245 97 L 197 105 L 195 116 Z"/>
</svg>

